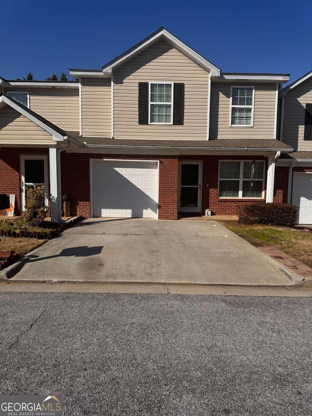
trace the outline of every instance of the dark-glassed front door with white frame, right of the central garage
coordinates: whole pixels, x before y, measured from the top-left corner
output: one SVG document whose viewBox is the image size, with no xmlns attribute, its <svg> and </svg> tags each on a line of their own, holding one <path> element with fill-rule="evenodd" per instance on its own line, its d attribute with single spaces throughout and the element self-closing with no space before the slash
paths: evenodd
<svg viewBox="0 0 312 416">
<path fill-rule="evenodd" d="M 179 162 L 179 211 L 201 211 L 202 162 Z"/>
</svg>

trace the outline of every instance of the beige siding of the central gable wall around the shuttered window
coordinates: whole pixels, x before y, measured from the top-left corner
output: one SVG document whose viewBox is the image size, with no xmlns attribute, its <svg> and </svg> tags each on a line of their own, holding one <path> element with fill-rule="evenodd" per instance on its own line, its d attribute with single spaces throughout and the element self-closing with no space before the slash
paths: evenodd
<svg viewBox="0 0 312 416">
<path fill-rule="evenodd" d="M 209 74 L 164 40 L 114 71 L 114 136 L 117 139 L 207 139 Z M 184 83 L 183 125 L 139 125 L 138 83 Z"/>
</svg>

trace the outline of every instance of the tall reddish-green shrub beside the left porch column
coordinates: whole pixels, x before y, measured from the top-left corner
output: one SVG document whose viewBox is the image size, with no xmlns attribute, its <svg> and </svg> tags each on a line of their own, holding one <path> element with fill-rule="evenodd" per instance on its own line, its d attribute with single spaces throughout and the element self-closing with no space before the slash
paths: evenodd
<svg viewBox="0 0 312 416">
<path fill-rule="evenodd" d="M 44 221 L 46 213 L 49 210 L 49 207 L 44 204 L 44 201 L 43 186 L 35 186 L 34 188 L 27 189 L 24 219 L 28 224 L 38 227 Z"/>
</svg>

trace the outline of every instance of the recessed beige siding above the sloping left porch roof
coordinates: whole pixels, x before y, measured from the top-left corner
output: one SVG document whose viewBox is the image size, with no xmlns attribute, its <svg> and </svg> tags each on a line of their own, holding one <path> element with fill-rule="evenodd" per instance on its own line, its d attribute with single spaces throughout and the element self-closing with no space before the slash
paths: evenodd
<svg viewBox="0 0 312 416">
<path fill-rule="evenodd" d="M 78 88 L 30 88 L 27 91 L 32 111 L 63 130 L 79 131 Z"/>
</svg>

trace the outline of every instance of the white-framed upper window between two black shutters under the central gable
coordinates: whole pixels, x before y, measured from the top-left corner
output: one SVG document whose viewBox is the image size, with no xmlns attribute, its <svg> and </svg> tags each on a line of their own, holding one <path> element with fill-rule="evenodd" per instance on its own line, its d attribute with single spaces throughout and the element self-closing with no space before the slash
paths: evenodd
<svg viewBox="0 0 312 416">
<path fill-rule="evenodd" d="M 150 82 L 149 124 L 172 124 L 173 94 L 172 83 Z"/>
</svg>

